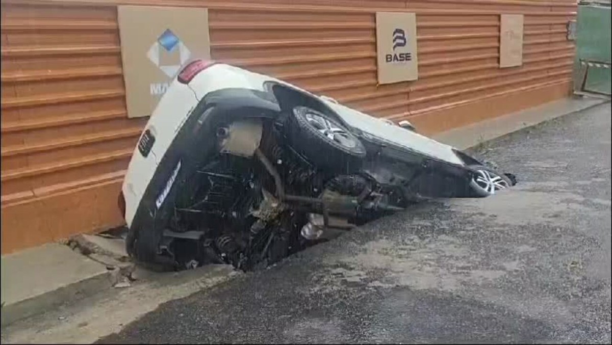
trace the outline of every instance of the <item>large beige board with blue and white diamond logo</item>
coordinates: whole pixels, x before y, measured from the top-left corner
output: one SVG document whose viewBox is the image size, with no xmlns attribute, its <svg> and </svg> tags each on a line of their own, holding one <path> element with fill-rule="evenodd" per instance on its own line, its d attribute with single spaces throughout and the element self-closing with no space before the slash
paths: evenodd
<svg viewBox="0 0 612 345">
<path fill-rule="evenodd" d="M 151 115 L 181 66 L 211 57 L 207 9 L 119 6 L 118 22 L 129 117 Z"/>
</svg>

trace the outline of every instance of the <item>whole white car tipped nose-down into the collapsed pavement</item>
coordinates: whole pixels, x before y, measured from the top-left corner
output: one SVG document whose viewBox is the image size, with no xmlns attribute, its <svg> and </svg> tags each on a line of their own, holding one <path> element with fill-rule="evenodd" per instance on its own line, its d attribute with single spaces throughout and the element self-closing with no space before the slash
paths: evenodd
<svg viewBox="0 0 612 345">
<path fill-rule="evenodd" d="M 127 251 L 162 269 L 266 265 L 423 198 L 515 183 L 408 122 L 269 76 L 196 60 L 144 128 L 119 204 Z"/>
</svg>

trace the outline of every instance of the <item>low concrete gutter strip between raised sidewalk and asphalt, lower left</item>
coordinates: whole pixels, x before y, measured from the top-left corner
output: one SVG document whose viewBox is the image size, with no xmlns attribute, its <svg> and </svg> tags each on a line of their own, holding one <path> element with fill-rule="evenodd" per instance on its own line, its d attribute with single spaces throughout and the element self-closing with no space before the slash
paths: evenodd
<svg viewBox="0 0 612 345">
<path fill-rule="evenodd" d="M 90 344 L 120 332 L 125 325 L 160 304 L 244 276 L 231 265 L 206 265 L 182 272 L 136 272 L 138 280 L 122 289 L 107 289 L 2 328 L 2 344 Z"/>
</svg>

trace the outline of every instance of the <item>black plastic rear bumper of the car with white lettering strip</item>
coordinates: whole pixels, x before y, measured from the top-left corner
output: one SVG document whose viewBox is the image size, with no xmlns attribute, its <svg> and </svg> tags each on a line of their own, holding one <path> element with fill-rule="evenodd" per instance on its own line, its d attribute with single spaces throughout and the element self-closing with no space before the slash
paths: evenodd
<svg viewBox="0 0 612 345">
<path fill-rule="evenodd" d="M 159 164 L 129 226 L 128 253 L 136 254 L 140 261 L 157 261 L 163 231 L 173 215 L 176 193 L 196 168 L 217 152 L 215 130 L 219 125 L 246 117 L 272 118 L 279 111 L 277 103 L 261 91 L 222 89 L 207 94 L 185 119 L 163 156 L 157 157 Z"/>
</svg>

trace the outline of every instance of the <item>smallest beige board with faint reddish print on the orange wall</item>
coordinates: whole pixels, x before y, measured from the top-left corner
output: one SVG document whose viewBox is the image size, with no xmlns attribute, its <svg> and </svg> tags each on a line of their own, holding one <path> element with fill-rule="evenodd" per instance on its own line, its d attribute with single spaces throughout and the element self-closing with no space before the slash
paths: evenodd
<svg viewBox="0 0 612 345">
<path fill-rule="evenodd" d="M 502 14 L 499 27 L 499 67 L 523 65 L 523 15 Z"/>
</svg>

